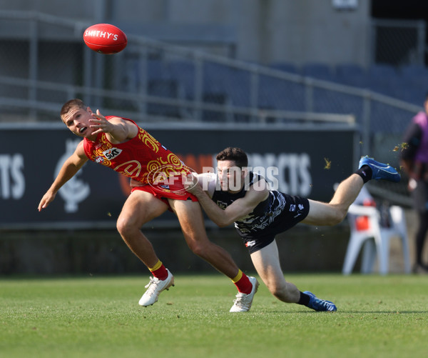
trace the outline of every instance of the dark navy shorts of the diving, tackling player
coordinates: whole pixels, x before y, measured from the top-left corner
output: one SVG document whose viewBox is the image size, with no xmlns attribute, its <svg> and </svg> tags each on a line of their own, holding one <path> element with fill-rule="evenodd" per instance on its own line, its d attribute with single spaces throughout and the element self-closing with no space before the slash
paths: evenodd
<svg viewBox="0 0 428 358">
<path fill-rule="evenodd" d="M 273 242 L 277 234 L 291 229 L 309 214 L 308 199 L 283 193 L 282 195 L 284 195 L 287 204 L 281 214 L 275 217 L 274 221 L 268 227 L 263 230 L 255 230 L 254 232 L 245 234 L 237 229 L 238 234 L 243 238 L 245 247 L 247 247 L 250 254 L 263 249 L 263 247 L 267 247 L 267 245 Z M 293 212 L 290 209 L 292 206 L 299 207 L 299 205 L 301 205 L 302 209 L 298 212 Z"/>
</svg>

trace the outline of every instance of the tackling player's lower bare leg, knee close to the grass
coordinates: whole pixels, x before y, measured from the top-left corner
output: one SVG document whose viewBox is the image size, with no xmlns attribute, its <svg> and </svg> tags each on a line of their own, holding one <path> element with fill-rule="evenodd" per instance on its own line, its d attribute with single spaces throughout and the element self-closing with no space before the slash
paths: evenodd
<svg viewBox="0 0 428 358">
<path fill-rule="evenodd" d="M 275 240 L 267 247 L 251 254 L 251 259 L 271 294 L 282 302 L 297 303 L 299 301 L 299 289 L 295 287 L 295 284 L 285 281 Z"/>
</svg>

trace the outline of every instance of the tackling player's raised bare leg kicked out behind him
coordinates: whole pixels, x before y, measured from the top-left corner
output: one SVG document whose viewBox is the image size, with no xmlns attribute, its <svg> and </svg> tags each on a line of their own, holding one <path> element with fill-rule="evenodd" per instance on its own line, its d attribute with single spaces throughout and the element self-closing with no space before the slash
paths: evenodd
<svg viewBox="0 0 428 358">
<path fill-rule="evenodd" d="M 310 225 L 335 225 L 345 219 L 350 205 L 357 199 L 364 182 L 358 174 L 352 174 L 343 182 L 330 203 L 310 200 L 309 214 L 302 222 Z"/>
</svg>

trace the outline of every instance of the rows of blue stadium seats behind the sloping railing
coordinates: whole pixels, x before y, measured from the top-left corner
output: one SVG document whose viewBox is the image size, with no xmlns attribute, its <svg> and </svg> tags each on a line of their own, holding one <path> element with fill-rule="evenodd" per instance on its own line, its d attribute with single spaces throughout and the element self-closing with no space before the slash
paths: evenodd
<svg viewBox="0 0 428 358">
<path fill-rule="evenodd" d="M 428 70 L 423 66 L 402 66 L 397 69 L 388 64 L 374 64 L 365 69 L 358 64 L 338 64 L 333 69 L 332 66 L 322 63 L 308 63 L 298 68 L 295 64 L 283 62 L 270 64 L 270 67 L 287 73 L 310 76 L 314 79 L 370 89 L 419 105 L 424 101 L 427 91 Z M 141 69 L 139 70 L 141 71 Z M 250 72 L 210 61 L 204 61 L 201 70 L 203 101 L 240 108 L 248 108 L 251 105 Z M 149 91 L 152 94 L 188 100 L 195 99 L 196 66 L 193 61 L 150 59 L 147 64 L 147 74 L 151 84 Z M 138 76 L 135 77 L 138 79 Z M 260 75 L 258 84 L 258 108 L 285 111 L 308 110 L 304 85 L 267 75 Z M 362 116 L 363 107 L 360 97 L 340 94 L 337 91 L 316 86 L 312 91 L 310 111 L 352 113 L 355 114 L 357 120 Z M 383 107 L 372 106 L 371 110 L 379 116 L 388 115 L 392 119 L 394 114 L 385 114 Z M 209 117 L 215 120 L 216 116 L 210 113 Z M 238 119 L 236 117 L 235 119 Z"/>
</svg>

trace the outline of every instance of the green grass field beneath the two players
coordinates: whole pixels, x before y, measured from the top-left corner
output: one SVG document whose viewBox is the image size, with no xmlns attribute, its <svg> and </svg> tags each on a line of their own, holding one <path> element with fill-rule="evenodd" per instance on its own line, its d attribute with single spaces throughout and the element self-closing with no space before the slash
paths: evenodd
<svg viewBox="0 0 428 358">
<path fill-rule="evenodd" d="M 284 304 L 260 284 L 230 314 L 220 274 L 175 275 L 139 307 L 147 277 L 0 279 L 0 357 L 424 357 L 428 276 L 290 274 L 337 312 Z"/>
</svg>

